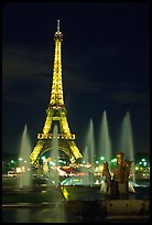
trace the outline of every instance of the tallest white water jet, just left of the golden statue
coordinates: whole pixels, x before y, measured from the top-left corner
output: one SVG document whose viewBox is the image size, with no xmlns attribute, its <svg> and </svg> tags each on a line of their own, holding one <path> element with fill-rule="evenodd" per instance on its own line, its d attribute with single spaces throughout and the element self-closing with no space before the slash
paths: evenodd
<svg viewBox="0 0 152 225">
<path fill-rule="evenodd" d="M 106 110 L 102 114 L 99 139 L 98 139 L 99 156 L 104 156 L 106 161 L 111 160 L 111 140 L 109 136 L 108 121 Z"/>
</svg>

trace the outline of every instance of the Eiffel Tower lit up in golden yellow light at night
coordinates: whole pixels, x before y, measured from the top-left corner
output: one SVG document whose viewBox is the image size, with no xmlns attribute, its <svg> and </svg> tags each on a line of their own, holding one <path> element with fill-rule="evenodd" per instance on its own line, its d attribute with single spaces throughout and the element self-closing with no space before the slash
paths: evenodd
<svg viewBox="0 0 152 225">
<path fill-rule="evenodd" d="M 62 84 L 62 42 L 63 33 L 59 31 L 59 20 L 57 20 L 57 31 L 54 34 L 55 54 L 52 92 L 48 107 L 46 109 L 46 120 L 43 127 L 43 132 L 37 133 L 37 143 L 33 149 L 30 159 L 31 163 L 39 162 L 41 156 L 51 150 L 51 141 L 53 138 L 58 139 L 58 149 L 62 150 L 75 163 L 77 159 L 83 158 L 80 151 L 75 143 L 75 135 L 70 133 L 67 122 L 67 110 L 64 104 L 63 84 Z M 57 122 L 58 132 L 55 137 L 52 132 L 53 126 Z"/>
</svg>

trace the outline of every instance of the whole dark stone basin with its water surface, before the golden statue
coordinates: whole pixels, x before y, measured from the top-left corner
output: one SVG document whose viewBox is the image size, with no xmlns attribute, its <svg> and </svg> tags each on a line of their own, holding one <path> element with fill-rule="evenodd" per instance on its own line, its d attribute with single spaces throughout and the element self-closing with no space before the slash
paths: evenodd
<svg viewBox="0 0 152 225">
<path fill-rule="evenodd" d="M 64 186 L 64 194 L 66 208 L 74 216 L 99 217 L 99 221 L 122 216 L 140 221 L 150 217 L 148 192 L 110 195 L 100 193 L 99 188 Z"/>
</svg>

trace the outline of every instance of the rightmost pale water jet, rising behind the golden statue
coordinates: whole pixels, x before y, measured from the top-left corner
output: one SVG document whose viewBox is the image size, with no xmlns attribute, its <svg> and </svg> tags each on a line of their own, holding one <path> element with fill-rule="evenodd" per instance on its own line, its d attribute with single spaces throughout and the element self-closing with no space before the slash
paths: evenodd
<svg viewBox="0 0 152 225">
<path fill-rule="evenodd" d="M 131 167 L 131 174 L 132 174 L 132 181 L 135 182 L 134 176 L 134 150 L 133 150 L 133 139 L 132 139 L 132 128 L 131 128 L 131 119 L 130 114 L 127 111 L 122 124 L 121 124 L 121 130 L 120 130 L 120 149 L 126 154 L 126 158 L 128 160 L 133 160 L 132 167 Z"/>
</svg>

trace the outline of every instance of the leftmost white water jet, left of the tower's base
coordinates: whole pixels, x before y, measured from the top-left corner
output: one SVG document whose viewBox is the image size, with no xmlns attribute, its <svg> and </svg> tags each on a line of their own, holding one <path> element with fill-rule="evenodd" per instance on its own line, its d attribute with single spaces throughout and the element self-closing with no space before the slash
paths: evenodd
<svg viewBox="0 0 152 225">
<path fill-rule="evenodd" d="M 22 139 L 21 139 L 21 150 L 19 154 L 19 188 L 29 188 L 32 183 L 32 168 L 30 161 L 31 153 L 31 142 L 28 135 L 28 126 L 24 126 Z"/>
</svg>

